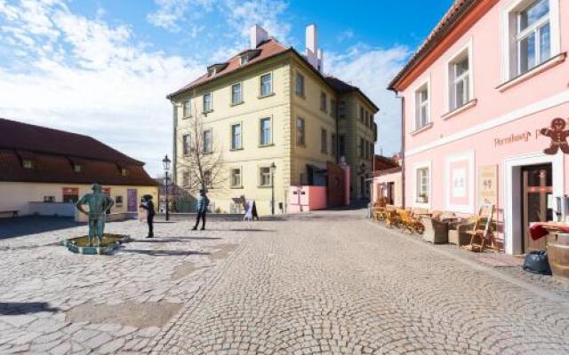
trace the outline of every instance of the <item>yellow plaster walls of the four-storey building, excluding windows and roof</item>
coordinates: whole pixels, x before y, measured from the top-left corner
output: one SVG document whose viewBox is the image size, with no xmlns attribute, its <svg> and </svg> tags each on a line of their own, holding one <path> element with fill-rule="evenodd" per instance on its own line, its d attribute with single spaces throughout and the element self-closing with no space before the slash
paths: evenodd
<svg viewBox="0 0 569 355">
<path fill-rule="evenodd" d="M 260 96 L 260 77 L 270 74 L 272 77 L 272 92 Z M 304 78 L 304 95 L 295 92 L 297 74 Z M 243 102 L 232 104 L 232 85 L 241 83 L 243 88 Z M 203 96 L 212 93 L 212 112 L 204 115 L 204 130 L 212 130 L 213 148 L 221 152 L 224 178 L 219 184 L 209 189 L 208 196 L 212 210 L 222 212 L 235 211 L 232 208 L 232 198 L 244 195 L 247 200 L 254 200 L 260 215 L 270 213 L 271 187 L 261 185 L 260 168 L 267 168 L 275 164 L 275 209 L 287 206 L 288 190 L 291 185 L 306 184 L 301 174 L 306 172 L 307 164 L 325 169 L 326 162 L 336 162 L 333 154 L 333 135 L 361 134 L 373 143 L 373 130 L 356 133 L 356 129 L 349 123 L 354 117 L 346 112 L 344 129 L 338 131 L 336 118 L 331 108 L 332 101 L 339 103 L 346 101 L 346 106 L 368 105 L 363 95 L 357 93 L 339 95 L 321 75 L 317 75 L 308 64 L 293 55 L 276 56 L 263 60 L 253 66 L 244 67 L 219 79 L 204 83 L 195 89 L 175 95 L 172 99 L 175 120 L 175 161 L 174 180 L 177 185 L 184 188 L 182 174 L 184 170 L 191 169 L 184 164 L 182 152 L 182 136 L 190 131 L 191 121 L 184 117 L 183 103 L 191 99 L 191 114 L 193 111 L 202 112 Z M 326 107 L 321 109 L 321 95 L 325 94 Z M 353 101 L 353 103 L 352 103 Z M 375 114 L 373 107 L 369 112 Z M 351 113 L 350 113 L 351 114 Z M 271 139 L 268 145 L 260 144 L 260 120 L 269 118 L 271 123 Z M 305 122 L 305 142 L 297 144 L 297 120 Z M 342 120 L 340 120 L 342 121 Z M 231 126 L 241 124 L 242 147 L 231 149 Z M 322 146 L 322 130 L 325 130 L 326 149 Z M 345 133 L 344 133 L 345 130 Z M 349 142 L 356 139 L 348 139 Z M 347 148 L 352 149 L 351 145 Z M 352 165 L 353 152 L 347 149 L 346 159 Z M 354 161 L 357 164 L 359 161 Z M 371 167 L 372 157 L 367 160 Z M 354 165 L 355 166 L 355 165 Z M 241 184 L 231 186 L 230 171 L 241 170 Z M 356 170 L 352 167 L 352 170 Z M 355 197 L 359 197 L 354 194 Z"/>
</svg>

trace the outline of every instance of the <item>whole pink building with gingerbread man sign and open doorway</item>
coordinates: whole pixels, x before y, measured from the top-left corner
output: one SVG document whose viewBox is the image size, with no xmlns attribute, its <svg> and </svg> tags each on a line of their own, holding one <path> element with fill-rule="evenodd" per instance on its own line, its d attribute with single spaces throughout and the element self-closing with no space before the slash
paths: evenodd
<svg viewBox="0 0 569 355">
<path fill-rule="evenodd" d="M 567 50 L 567 0 L 457 0 L 389 84 L 402 98 L 405 206 L 474 214 L 489 201 L 506 253 L 544 248 L 527 225 L 569 193 L 569 154 L 544 153 L 541 134 L 569 117 Z"/>
</svg>

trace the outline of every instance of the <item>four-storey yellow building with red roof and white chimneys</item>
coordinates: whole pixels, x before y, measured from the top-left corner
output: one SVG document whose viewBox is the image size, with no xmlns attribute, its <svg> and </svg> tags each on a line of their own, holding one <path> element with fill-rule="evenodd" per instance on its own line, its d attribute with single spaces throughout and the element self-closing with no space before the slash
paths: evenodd
<svg viewBox="0 0 569 355">
<path fill-rule="evenodd" d="M 235 212 L 232 198 L 244 195 L 260 214 L 269 213 L 274 173 L 276 210 L 285 211 L 291 186 L 322 185 L 326 162 L 341 157 L 351 167 L 352 199 L 369 197 L 365 176 L 372 170 L 379 108 L 357 87 L 322 74 L 316 27 L 306 32 L 301 55 L 255 26 L 249 49 L 168 95 L 176 184 L 191 185 L 195 174 L 185 145 L 196 114 L 203 117 L 204 149 L 220 154 L 219 182 L 208 188 L 212 209 Z"/>
</svg>

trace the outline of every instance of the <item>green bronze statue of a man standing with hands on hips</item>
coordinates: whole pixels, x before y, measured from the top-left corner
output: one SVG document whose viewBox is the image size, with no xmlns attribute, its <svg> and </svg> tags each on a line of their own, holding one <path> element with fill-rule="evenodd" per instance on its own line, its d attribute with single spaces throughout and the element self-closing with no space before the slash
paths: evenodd
<svg viewBox="0 0 569 355">
<path fill-rule="evenodd" d="M 103 189 L 99 184 L 92 185 L 92 193 L 85 194 L 81 200 L 77 201 L 76 208 L 85 215 L 89 216 L 89 246 L 91 246 L 92 238 L 96 235 L 99 241 L 103 241 L 103 232 L 105 231 L 105 217 L 107 210 L 113 207 L 115 201 L 103 193 Z M 89 211 L 84 210 L 83 205 L 89 206 Z"/>
</svg>

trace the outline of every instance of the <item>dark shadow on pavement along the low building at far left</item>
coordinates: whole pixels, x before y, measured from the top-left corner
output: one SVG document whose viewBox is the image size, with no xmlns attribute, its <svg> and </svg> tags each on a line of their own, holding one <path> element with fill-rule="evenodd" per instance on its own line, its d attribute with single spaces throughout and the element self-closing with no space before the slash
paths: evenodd
<svg viewBox="0 0 569 355">
<path fill-rule="evenodd" d="M 0 219 L 0 239 L 21 237 L 22 235 L 52 232 L 73 228 L 77 223 L 73 217 L 25 216 Z"/>
</svg>

